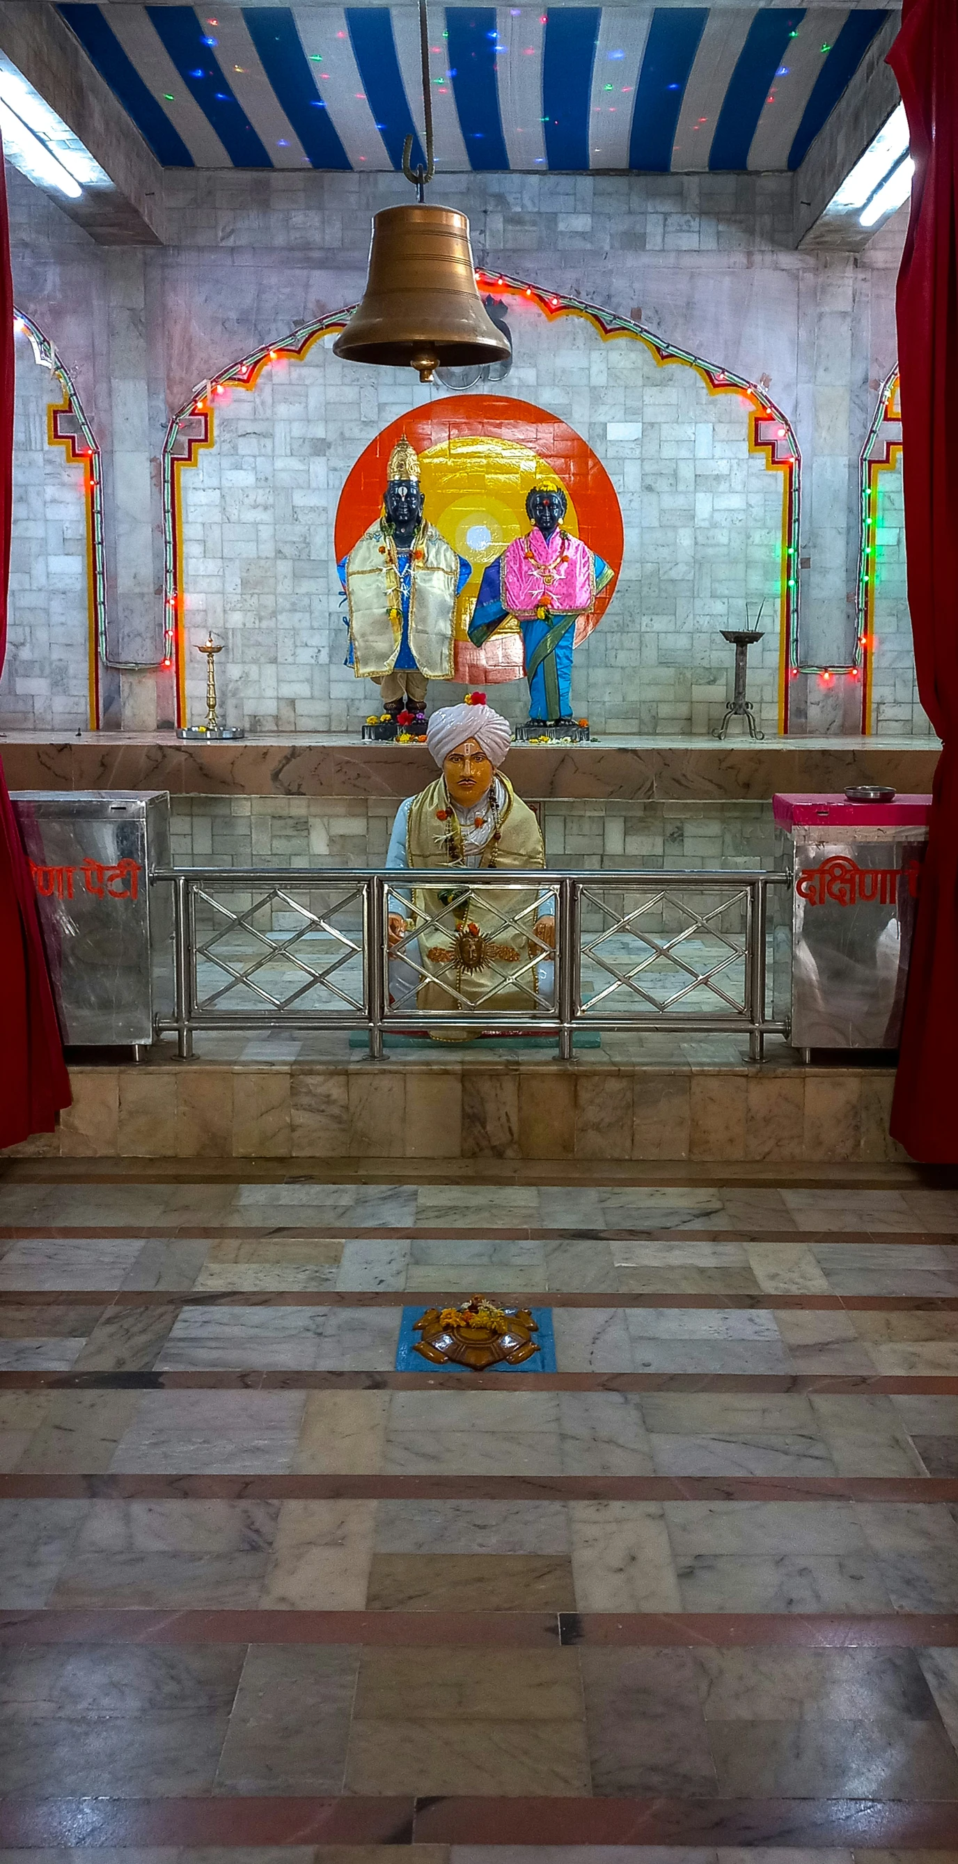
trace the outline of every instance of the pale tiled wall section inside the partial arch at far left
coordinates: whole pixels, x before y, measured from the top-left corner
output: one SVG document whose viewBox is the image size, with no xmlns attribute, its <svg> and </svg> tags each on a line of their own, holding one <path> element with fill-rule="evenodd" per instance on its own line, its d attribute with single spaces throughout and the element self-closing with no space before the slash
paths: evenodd
<svg viewBox="0 0 958 1864">
<path fill-rule="evenodd" d="M 7 656 L 0 725 L 86 731 L 88 563 L 84 468 L 47 440 L 47 410 L 63 393 L 37 363 L 30 337 L 15 336 L 13 541 Z"/>
</svg>

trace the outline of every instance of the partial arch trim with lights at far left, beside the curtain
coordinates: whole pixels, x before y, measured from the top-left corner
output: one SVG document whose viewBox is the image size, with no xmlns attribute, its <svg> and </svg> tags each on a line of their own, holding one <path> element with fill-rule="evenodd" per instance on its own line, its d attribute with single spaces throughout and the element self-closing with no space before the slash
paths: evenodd
<svg viewBox="0 0 958 1864">
<path fill-rule="evenodd" d="M 63 399 L 47 403 L 47 445 L 63 447 L 71 466 L 84 472 L 86 602 L 88 602 L 88 706 L 89 731 L 101 727 L 101 662 L 106 660 L 106 555 L 103 546 L 103 459 L 84 414 L 76 384 L 50 339 L 26 311 L 13 308 L 13 334 L 24 336 L 34 362 L 60 382 Z"/>
</svg>

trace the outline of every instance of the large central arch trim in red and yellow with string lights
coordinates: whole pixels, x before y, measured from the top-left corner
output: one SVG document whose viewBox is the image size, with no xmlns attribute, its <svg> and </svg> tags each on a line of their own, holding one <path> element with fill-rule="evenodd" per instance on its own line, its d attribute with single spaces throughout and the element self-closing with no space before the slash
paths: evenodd
<svg viewBox="0 0 958 1864">
<path fill-rule="evenodd" d="M 747 403 L 749 453 L 762 453 L 766 470 L 783 477 L 781 513 L 781 595 L 779 595 L 779 731 L 788 731 L 788 688 L 798 673 L 798 539 L 801 514 L 801 453 L 788 416 L 757 384 L 732 369 L 693 356 L 628 317 L 617 317 L 595 304 L 544 291 L 505 272 L 477 270 L 481 291 L 503 291 L 535 304 L 550 321 L 578 317 L 598 332 L 602 341 L 641 343 L 660 367 L 680 363 L 693 369 L 710 395 L 738 395 Z M 220 375 L 199 382 L 188 401 L 173 414 L 162 449 L 162 505 L 164 505 L 164 667 L 175 667 L 177 723 L 186 723 L 186 656 L 183 634 L 183 490 L 181 475 L 196 466 L 203 447 L 216 444 L 216 399 L 231 390 L 253 390 L 270 362 L 302 362 L 322 337 L 345 330 L 356 306 L 332 311 L 317 322 L 302 324 L 287 337 L 263 343 L 231 363 Z"/>
</svg>

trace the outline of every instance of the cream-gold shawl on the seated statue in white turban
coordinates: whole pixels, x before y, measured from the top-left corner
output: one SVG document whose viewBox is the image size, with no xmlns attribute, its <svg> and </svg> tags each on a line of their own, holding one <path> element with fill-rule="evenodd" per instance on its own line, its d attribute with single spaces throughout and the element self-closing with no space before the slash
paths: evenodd
<svg viewBox="0 0 958 1864">
<path fill-rule="evenodd" d="M 419 796 L 399 805 L 386 865 L 397 870 L 449 867 L 449 887 L 414 887 L 393 895 L 390 911 L 412 919 L 408 962 L 393 962 L 393 995 L 419 1010 L 526 1010 L 552 1001 L 552 951 L 531 936 L 535 921 L 552 911 L 539 889 L 470 889 L 457 869 L 544 867 L 542 833 L 533 811 L 498 775 L 488 798 L 468 813 L 488 811 L 488 839 L 470 850 L 445 781 L 436 777 Z M 518 919 L 518 925 L 507 921 Z M 419 969 L 416 969 L 419 966 Z M 425 973 L 425 977 L 421 975 Z"/>
</svg>

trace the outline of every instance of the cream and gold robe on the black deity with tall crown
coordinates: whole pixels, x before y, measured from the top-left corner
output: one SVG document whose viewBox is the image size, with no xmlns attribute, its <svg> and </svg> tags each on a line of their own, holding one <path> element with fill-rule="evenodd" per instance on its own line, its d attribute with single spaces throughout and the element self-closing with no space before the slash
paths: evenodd
<svg viewBox="0 0 958 1864">
<path fill-rule="evenodd" d="M 380 680 L 417 667 L 429 680 L 453 678 L 457 598 L 472 576 L 432 524 L 412 550 L 397 550 L 390 524 L 371 524 L 337 565 L 347 591 L 349 654 L 356 678 Z"/>
</svg>

